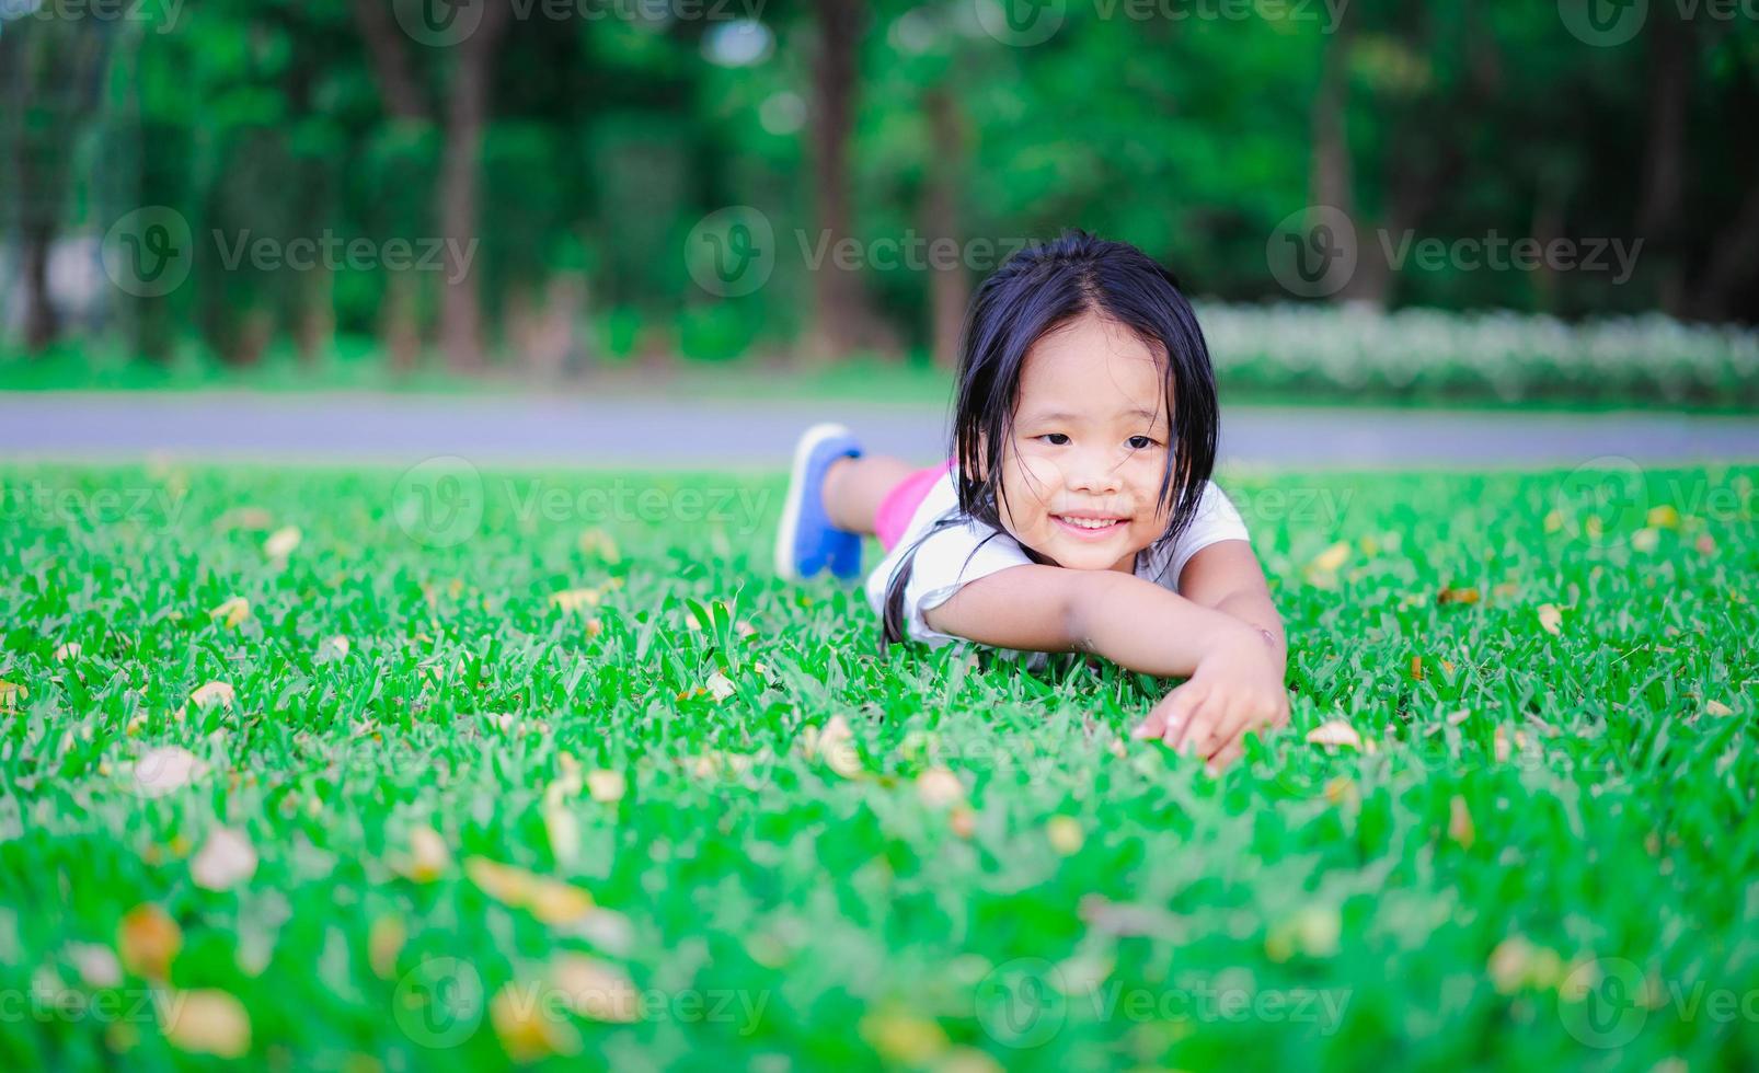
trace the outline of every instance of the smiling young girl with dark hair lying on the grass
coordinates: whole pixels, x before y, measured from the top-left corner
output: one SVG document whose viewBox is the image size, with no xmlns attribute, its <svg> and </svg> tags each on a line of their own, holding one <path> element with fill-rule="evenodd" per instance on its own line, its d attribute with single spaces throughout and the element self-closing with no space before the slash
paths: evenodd
<svg viewBox="0 0 1759 1073">
<path fill-rule="evenodd" d="M 843 426 L 795 452 L 783 577 L 860 573 L 885 640 L 1098 653 L 1187 679 L 1133 730 L 1212 770 L 1289 716 L 1286 640 L 1245 524 L 1210 484 L 1215 380 L 1177 281 L 1084 232 L 978 288 L 952 454 L 913 470 Z"/>
</svg>

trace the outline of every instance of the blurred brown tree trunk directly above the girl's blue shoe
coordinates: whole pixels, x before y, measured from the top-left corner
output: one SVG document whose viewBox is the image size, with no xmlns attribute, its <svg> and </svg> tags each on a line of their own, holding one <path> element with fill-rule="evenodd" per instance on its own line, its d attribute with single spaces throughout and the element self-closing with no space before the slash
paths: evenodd
<svg viewBox="0 0 1759 1073">
<path fill-rule="evenodd" d="M 825 259 L 813 271 L 813 327 L 807 357 L 837 361 L 876 341 L 876 317 L 862 288 L 862 266 L 837 266 L 836 248 L 850 234 L 848 142 L 865 0 L 820 0 L 818 55 L 813 60 L 813 206 L 816 248 Z"/>
</svg>

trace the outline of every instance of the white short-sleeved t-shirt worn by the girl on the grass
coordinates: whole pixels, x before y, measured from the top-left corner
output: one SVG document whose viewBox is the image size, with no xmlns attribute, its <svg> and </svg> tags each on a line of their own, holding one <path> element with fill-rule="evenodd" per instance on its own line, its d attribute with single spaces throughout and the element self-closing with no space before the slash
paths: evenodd
<svg viewBox="0 0 1759 1073">
<path fill-rule="evenodd" d="M 959 491 L 953 487 L 953 475 L 943 473 L 909 517 L 909 526 L 897 545 L 867 575 L 867 602 L 876 614 L 885 616 L 885 591 L 892 584 L 892 573 L 904 561 L 904 556 L 909 554 L 909 549 L 915 547 L 916 538 L 939 519 L 957 514 Z M 1228 496 L 1212 482 L 1205 482 L 1203 498 L 1198 501 L 1198 514 L 1191 519 L 1184 535 L 1175 544 L 1136 552 L 1135 573 L 1177 593 L 1179 573 L 1191 561 L 1191 556 L 1219 540 L 1249 538 L 1245 522 Z M 959 640 L 948 633 L 931 630 L 922 612 L 946 603 L 962 586 L 980 577 L 989 577 L 1010 566 L 1025 566 L 1031 561 L 1020 542 L 1011 535 L 971 517 L 936 531 L 916 551 L 909 582 L 904 586 L 908 635 L 932 647 Z"/>
</svg>

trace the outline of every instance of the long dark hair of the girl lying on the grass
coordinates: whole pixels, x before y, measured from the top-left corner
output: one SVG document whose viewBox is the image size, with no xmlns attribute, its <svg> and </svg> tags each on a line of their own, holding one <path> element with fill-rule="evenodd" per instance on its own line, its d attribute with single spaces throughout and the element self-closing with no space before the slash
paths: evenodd
<svg viewBox="0 0 1759 1073">
<path fill-rule="evenodd" d="M 1001 531 L 1001 466 L 1013 440 L 1020 371 L 1040 338 L 1098 313 L 1163 352 L 1161 405 L 1171 424 L 1171 450 L 1161 475 L 1159 501 L 1168 508 L 1166 533 L 1179 540 L 1196 517 L 1203 484 L 1215 468 L 1219 412 L 1208 347 L 1179 278 L 1129 243 L 1112 243 L 1068 230 L 1010 257 L 978 287 L 959 341 L 959 394 L 953 403 L 952 454 L 957 459 L 959 517 L 941 519 L 929 533 L 964 517 Z M 927 536 L 925 533 L 923 536 Z M 904 588 L 922 538 L 904 554 L 887 582 L 885 642 L 904 639 Z M 1025 549 L 1033 559 L 1041 558 Z"/>
</svg>

